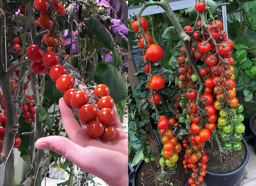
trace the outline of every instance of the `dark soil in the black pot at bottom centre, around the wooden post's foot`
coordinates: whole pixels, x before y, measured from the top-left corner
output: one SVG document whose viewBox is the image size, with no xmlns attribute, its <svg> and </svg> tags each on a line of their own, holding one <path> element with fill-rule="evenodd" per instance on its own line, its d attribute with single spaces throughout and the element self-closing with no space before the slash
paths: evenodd
<svg viewBox="0 0 256 186">
<path fill-rule="evenodd" d="M 156 179 L 156 175 L 161 173 L 161 168 L 156 168 L 155 161 L 144 163 L 137 175 L 137 186 L 170 186 L 171 183 L 173 183 L 173 186 L 182 186 L 188 179 L 189 173 L 188 170 L 186 172 L 186 170 L 183 169 L 183 157 L 184 151 L 181 151 L 177 161 L 178 166 L 175 170 L 171 170 L 165 166 L 165 171 L 167 174 L 170 174 L 170 176 L 165 178 L 162 182 L 154 181 Z"/>
</svg>

